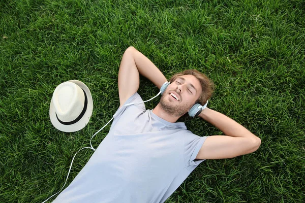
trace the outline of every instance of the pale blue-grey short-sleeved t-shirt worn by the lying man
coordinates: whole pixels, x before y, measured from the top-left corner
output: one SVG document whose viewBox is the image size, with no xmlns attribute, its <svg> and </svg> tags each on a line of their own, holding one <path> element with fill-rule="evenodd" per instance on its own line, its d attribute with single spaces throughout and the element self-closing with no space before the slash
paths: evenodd
<svg viewBox="0 0 305 203">
<path fill-rule="evenodd" d="M 125 104 L 143 101 L 134 93 Z M 117 110 L 110 131 L 53 202 L 164 202 L 203 160 L 207 137 L 168 122 L 144 103 Z"/>
</svg>

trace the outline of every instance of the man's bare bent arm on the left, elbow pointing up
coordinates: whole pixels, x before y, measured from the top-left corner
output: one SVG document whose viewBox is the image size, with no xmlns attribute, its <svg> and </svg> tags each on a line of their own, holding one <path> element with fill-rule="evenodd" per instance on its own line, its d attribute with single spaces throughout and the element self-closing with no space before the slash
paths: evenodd
<svg viewBox="0 0 305 203">
<path fill-rule="evenodd" d="M 158 67 L 134 47 L 123 54 L 118 71 L 118 94 L 120 107 L 139 89 L 139 74 L 153 82 L 159 89 L 166 82 Z"/>
</svg>

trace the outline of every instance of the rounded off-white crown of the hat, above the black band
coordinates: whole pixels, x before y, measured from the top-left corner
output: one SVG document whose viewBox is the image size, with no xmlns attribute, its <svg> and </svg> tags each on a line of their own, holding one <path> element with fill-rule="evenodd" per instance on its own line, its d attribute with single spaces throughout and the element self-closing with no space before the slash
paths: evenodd
<svg viewBox="0 0 305 203">
<path fill-rule="evenodd" d="M 75 120 L 84 108 L 84 92 L 73 82 L 64 82 L 53 92 L 53 105 L 60 121 Z"/>
</svg>

